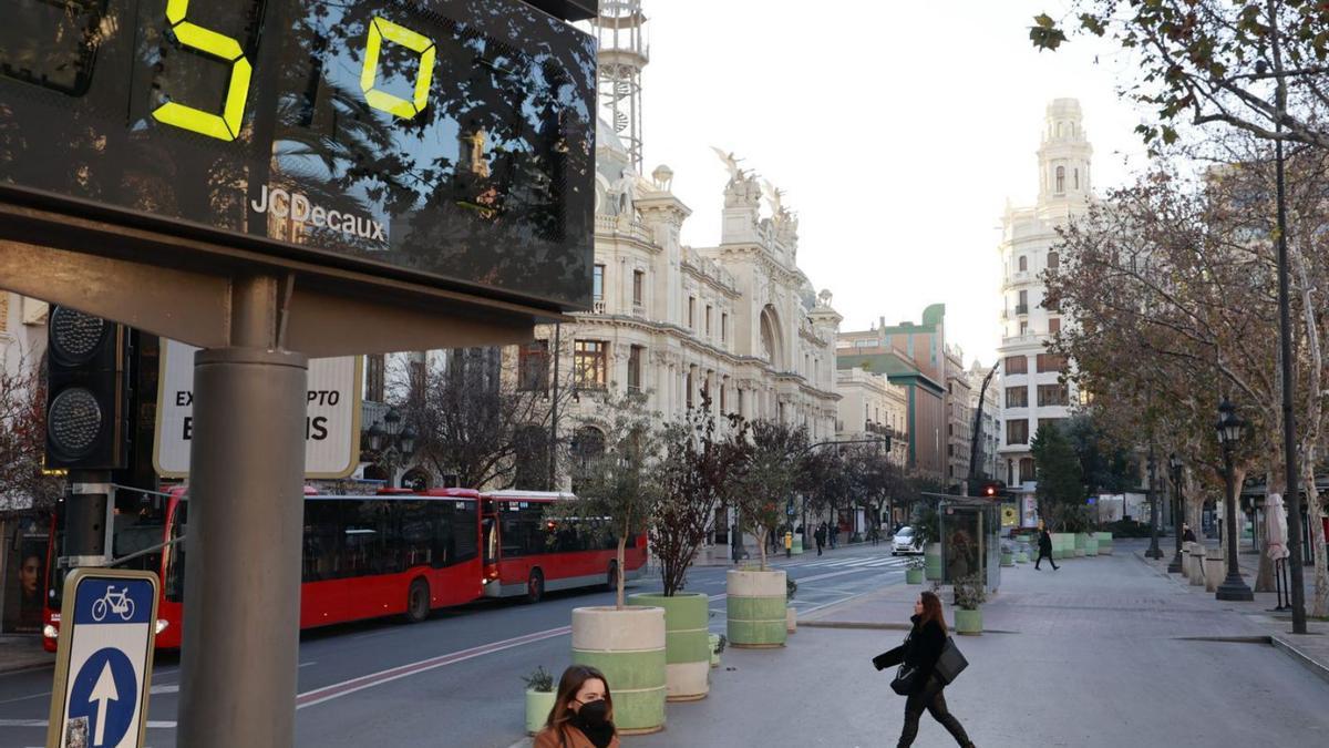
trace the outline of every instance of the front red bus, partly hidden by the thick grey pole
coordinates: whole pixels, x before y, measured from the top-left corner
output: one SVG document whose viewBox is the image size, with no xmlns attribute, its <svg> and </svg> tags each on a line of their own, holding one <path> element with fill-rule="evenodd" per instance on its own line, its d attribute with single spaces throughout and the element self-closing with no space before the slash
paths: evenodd
<svg viewBox="0 0 1329 748">
<path fill-rule="evenodd" d="M 183 628 L 189 500 L 173 488 L 138 514 L 116 514 L 113 558 L 149 550 L 117 564 L 155 571 L 162 579 L 157 647 L 178 648 Z M 62 544 L 64 512 L 52 527 L 52 560 Z M 165 544 L 165 546 L 163 546 Z M 48 563 L 47 568 L 53 568 Z M 300 628 L 403 615 L 424 620 L 439 607 L 481 596 L 480 494 L 465 488 L 384 491 L 373 496 L 304 496 Z M 54 651 L 64 571 L 48 572 L 43 644 Z"/>
</svg>

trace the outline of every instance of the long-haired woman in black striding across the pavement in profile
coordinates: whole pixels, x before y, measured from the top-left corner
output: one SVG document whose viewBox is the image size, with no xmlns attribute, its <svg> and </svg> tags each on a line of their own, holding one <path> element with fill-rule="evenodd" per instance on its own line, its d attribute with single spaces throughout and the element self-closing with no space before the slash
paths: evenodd
<svg viewBox="0 0 1329 748">
<path fill-rule="evenodd" d="M 901 663 L 918 668 L 918 675 L 913 679 L 916 687 L 905 697 L 905 727 L 900 731 L 898 748 L 913 745 L 924 709 L 950 732 L 957 744 L 962 748 L 974 748 L 964 725 L 946 707 L 946 697 L 942 693 L 945 685 L 933 672 L 937 659 L 941 657 L 941 650 L 946 646 L 946 619 L 942 616 L 941 598 L 934 592 L 918 595 L 918 600 L 914 602 L 914 615 L 909 620 L 913 622 L 913 628 L 905 643 L 872 659 L 877 669 Z"/>
</svg>

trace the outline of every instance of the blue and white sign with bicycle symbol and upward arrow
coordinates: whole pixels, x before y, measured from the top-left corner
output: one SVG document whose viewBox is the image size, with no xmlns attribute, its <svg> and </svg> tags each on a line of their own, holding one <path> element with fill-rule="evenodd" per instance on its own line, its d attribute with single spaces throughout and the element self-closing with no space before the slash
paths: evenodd
<svg viewBox="0 0 1329 748">
<path fill-rule="evenodd" d="M 140 748 L 157 636 L 157 575 L 78 568 L 65 580 L 48 748 Z"/>
</svg>

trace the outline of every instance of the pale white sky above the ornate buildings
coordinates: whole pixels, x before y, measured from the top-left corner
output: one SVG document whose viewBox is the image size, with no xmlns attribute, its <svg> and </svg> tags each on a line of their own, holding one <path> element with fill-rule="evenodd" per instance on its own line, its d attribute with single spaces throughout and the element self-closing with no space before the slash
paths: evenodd
<svg viewBox="0 0 1329 748">
<path fill-rule="evenodd" d="M 808 12 L 809 9 L 817 12 Z M 1076 97 L 1102 194 L 1127 181 L 1130 65 L 1074 39 L 1035 52 L 1027 27 L 1062 0 L 645 0 L 651 64 L 645 170 L 674 169 L 692 209 L 683 241 L 719 242 L 724 166 L 787 190 L 799 265 L 829 289 L 844 330 L 918 322 L 946 303 L 948 342 L 995 358 L 1001 216 L 1031 202 L 1043 110 Z M 1104 52 L 1099 64 L 1095 52 Z"/>
</svg>

